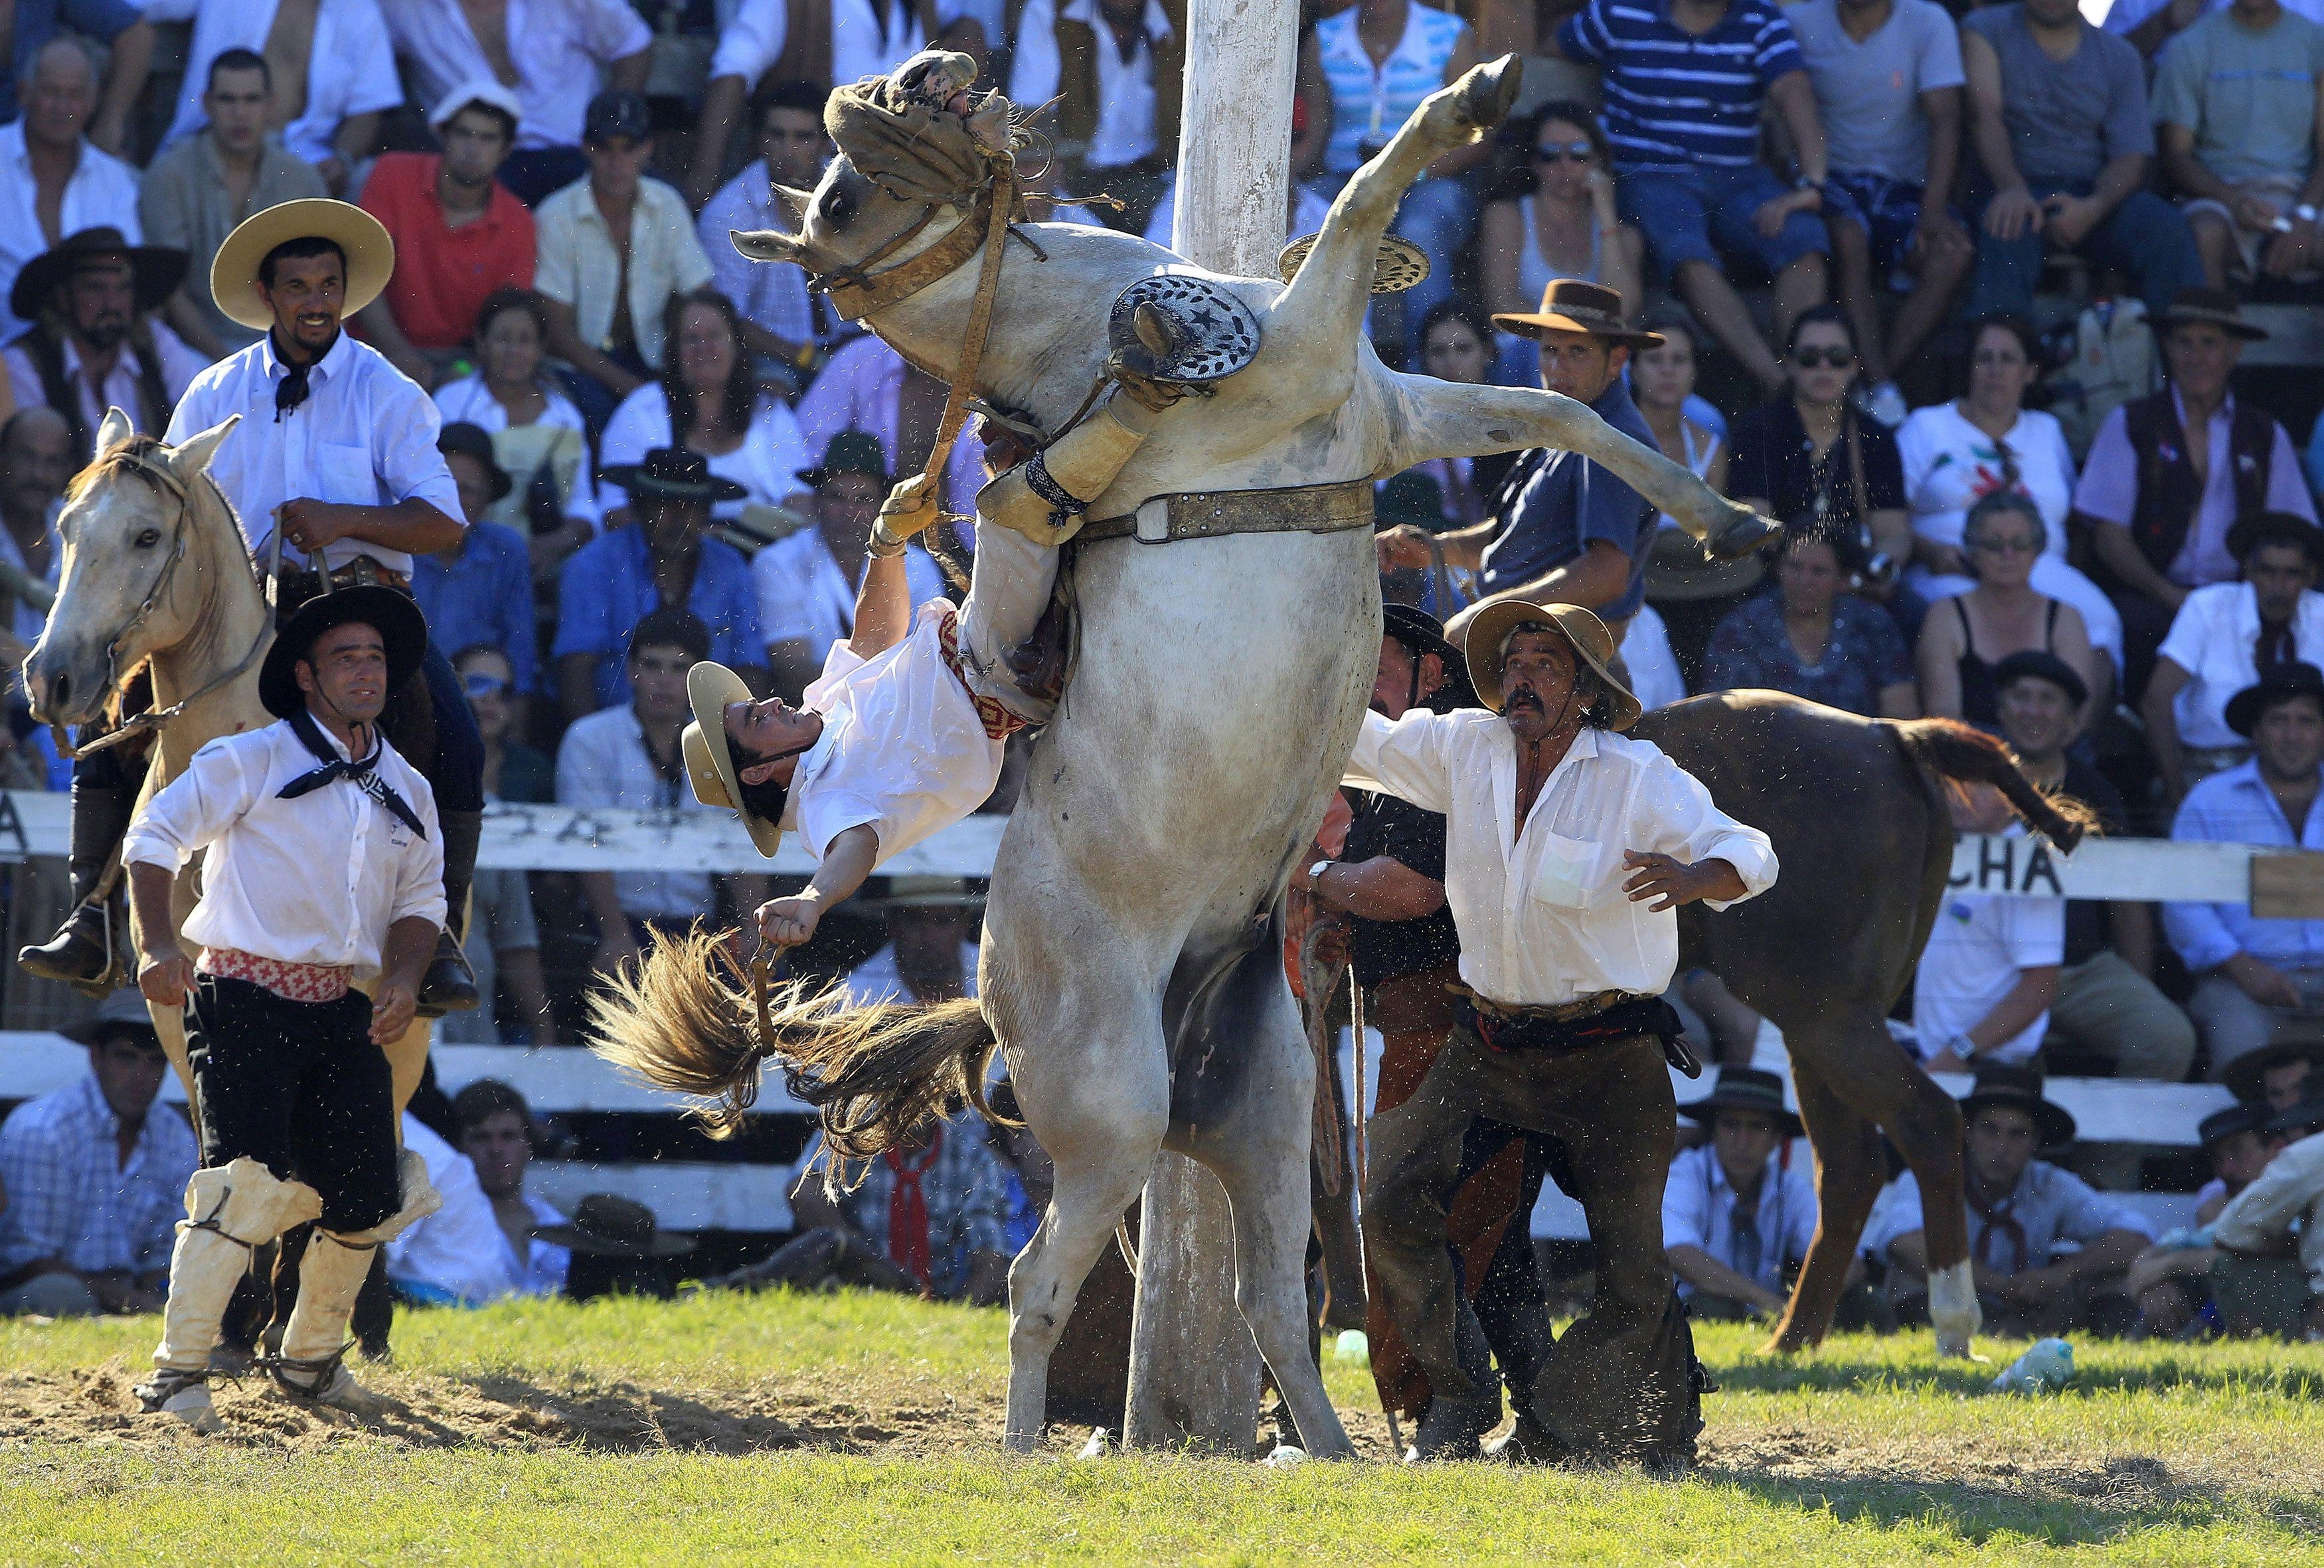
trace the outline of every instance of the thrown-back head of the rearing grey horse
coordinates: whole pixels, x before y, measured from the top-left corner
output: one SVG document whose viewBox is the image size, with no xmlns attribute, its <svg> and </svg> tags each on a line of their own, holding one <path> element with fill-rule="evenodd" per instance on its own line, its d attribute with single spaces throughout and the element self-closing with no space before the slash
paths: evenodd
<svg viewBox="0 0 2324 1568">
<path fill-rule="evenodd" d="M 737 230 L 734 249 L 832 274 L 881 256 L 932 207 L 967 214 L 990 158 L 1011 139 L 1009 100 L 971 100 L 974 79 L 969 56 L 923 49 L 885 77 L 832 93 L 823 123 L 839 156 L 813 190 L 776 186 L 799 232 Z"/>
</svg>

